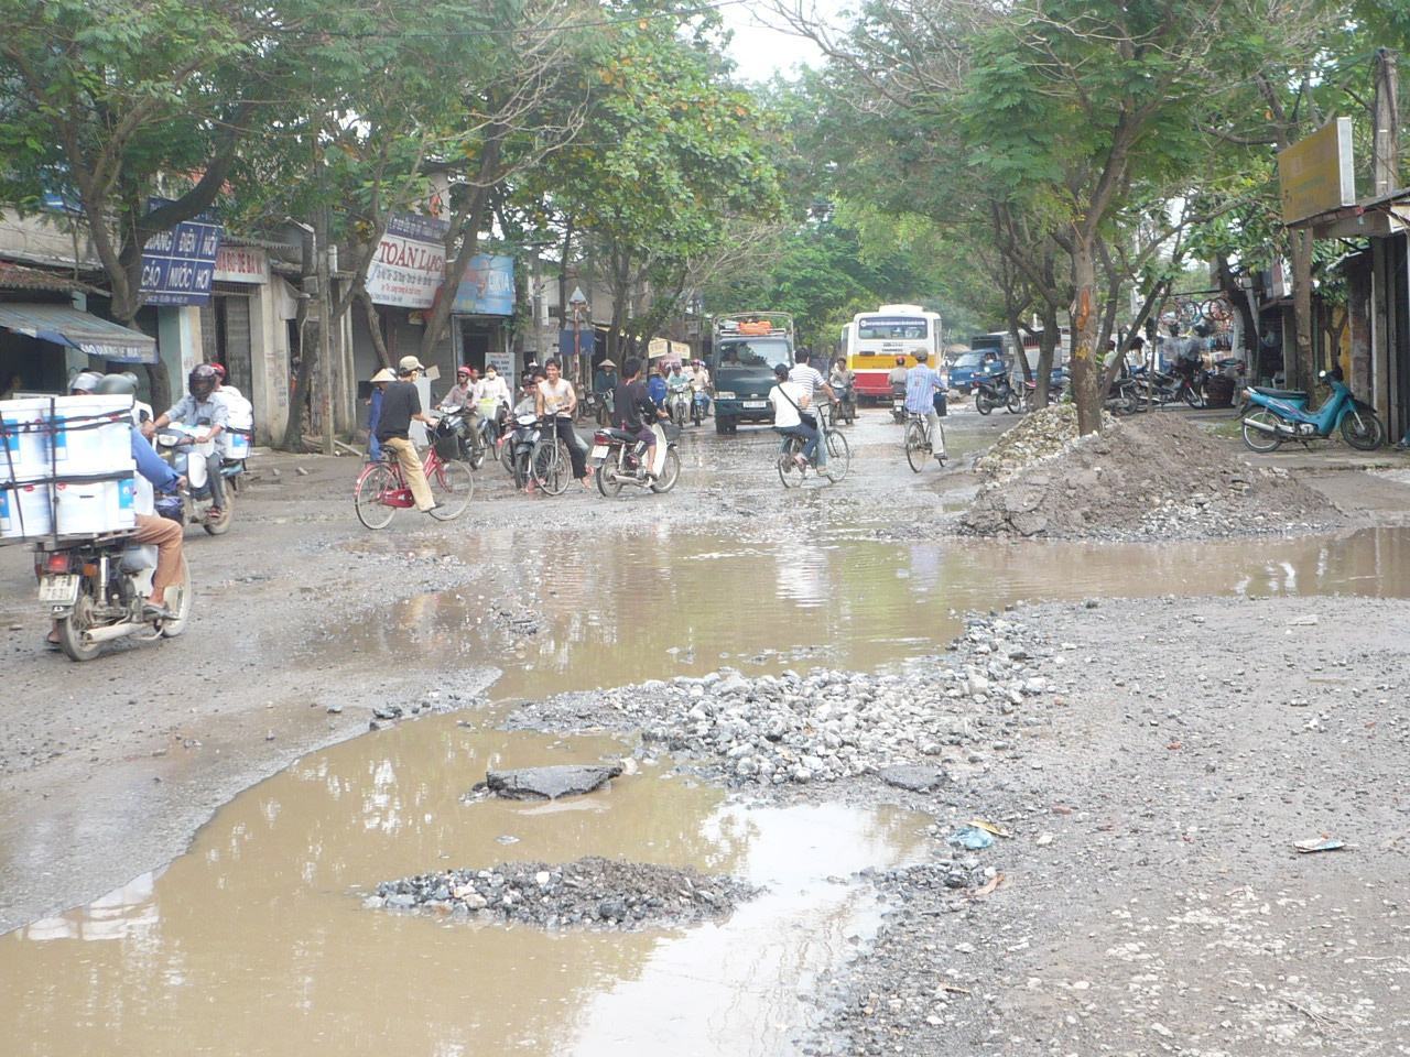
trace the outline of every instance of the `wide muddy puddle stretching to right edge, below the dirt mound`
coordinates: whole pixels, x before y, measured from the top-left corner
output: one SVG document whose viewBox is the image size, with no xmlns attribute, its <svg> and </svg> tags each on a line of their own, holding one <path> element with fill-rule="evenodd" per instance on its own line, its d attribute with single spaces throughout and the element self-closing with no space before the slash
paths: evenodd
<svg viewBox="0 0 1410 1057">
<path fill-rule="evenodd" d="M 478 545 L 478 544 L 477 544 Z M 420 595 L 316 643 L 321 662 L 494 664 L 498 698 L 616 686 L 730 664 L 876 668 L 942 648 L 966 610 L 1158 595 L 1410 596 L 1410 530 L 1170 544 L 979 540 L 742 544 L 661 530 L 596 551 L 510 541 L 522 586 Z M 467 548 L 465 557 L 474 551 Z"/>
</svg>

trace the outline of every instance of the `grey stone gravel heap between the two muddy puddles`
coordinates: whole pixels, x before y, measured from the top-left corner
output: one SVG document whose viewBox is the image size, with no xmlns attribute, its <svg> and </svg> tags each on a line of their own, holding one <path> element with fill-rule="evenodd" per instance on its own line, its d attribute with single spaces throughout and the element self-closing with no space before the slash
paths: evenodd
<svg viewBox="0 0 1410 1057">
<path fill-rule="evenodd" d="M 726 668 L 591 695 L 532 702 L 516 727 L 640 730 L 677 758 L 736 786 L 833 782 L 905 762 L 981 762 L 1010 723 L 1049 693 L 1042 658 L 1011 641 L 1012 622 L 974 619 L 949 657 L 898 675 L 818 669 L 749 678 Z M 1003 746 L 1003 741 L 998 744 Z"/>
</svg>

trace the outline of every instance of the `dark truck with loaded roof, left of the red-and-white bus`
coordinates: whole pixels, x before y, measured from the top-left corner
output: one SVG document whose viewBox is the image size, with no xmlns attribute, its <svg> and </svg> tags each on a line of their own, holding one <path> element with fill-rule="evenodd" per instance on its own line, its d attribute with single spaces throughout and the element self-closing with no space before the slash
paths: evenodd
<svg viewBox="0 0 1410 1057">
<path fill-rule="evenodd" d="M 785 311 L 737 311 L 711 321 L 709 375 L 715 383 L 715 433 L 739 423 L 773 424 L 768 392 L 774 366 L 794 362 L 794 321 Z"/>
</svg>

